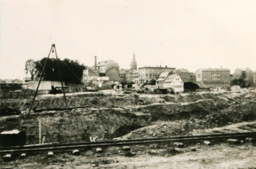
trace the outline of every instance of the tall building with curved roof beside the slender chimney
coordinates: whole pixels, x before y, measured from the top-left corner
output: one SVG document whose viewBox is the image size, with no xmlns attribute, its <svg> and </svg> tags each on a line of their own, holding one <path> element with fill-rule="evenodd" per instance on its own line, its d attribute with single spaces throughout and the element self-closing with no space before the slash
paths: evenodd
<svg viewBox="0 0 256 169">
<path fill-rule="evenodd" d="M 119 81 L 119 65 L 113 60 L 97 63 L 97 57 L 95 57 L 95 65 L 92 69 L 99 70 L 100 77 L 109 77 L 109 81 Z"/>
</svg>

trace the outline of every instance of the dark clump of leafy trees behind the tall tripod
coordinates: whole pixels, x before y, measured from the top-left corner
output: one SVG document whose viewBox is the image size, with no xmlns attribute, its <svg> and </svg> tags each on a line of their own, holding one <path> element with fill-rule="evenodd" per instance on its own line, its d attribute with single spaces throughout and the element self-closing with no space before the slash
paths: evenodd
<svg viewBox="0 0 256 169">
<path fill-rule="evenodd" d="M 84 64 L 80 64 L 77 60 L 71 59 L 53 59 L 44 57 L 38 61 L 29 59 L 25 63 L 25 71 L 27 74 L 31 75 L 31 79 L 34 80 L 35 77 L 40 77 L 44 81 L 64 81 L 65 84 L 80 84 L 83 70 L 85 69 Z M 44 67 L 44 72 L 42 69 Z"/>
</svg>

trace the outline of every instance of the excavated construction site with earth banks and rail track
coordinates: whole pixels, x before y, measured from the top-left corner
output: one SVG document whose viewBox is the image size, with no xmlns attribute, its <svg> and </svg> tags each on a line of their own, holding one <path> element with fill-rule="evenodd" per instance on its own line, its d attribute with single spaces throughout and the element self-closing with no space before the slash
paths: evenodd
<svg viewBox="0 0 256 169">
<path fill-rule="evenodd" d="M 1 167 L 255 168 L 254 90 L 125 93 L 70 93 L 68 106 L 63 94 L 40 95 L 30 113 L 32 98 L 2 99 L 21 113 L 1 116 L 0 132 L 25 131 L 26 143 L 2 147 Z"/>
</svg>

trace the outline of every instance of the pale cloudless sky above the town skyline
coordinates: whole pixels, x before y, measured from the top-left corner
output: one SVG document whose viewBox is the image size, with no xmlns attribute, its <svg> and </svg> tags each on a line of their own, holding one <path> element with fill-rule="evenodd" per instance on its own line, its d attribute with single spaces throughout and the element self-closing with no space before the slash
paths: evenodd
<svg viewBox="0 0 256 169">
<path fill-rule="evenodd" d="M 256 71 L 256 1 L 2 0 L 0 78 L 23 79 L 25 62 L 47 57 L 84 65 L 112 59 L 138 67 L 250 67 Z"/>
</svg>

